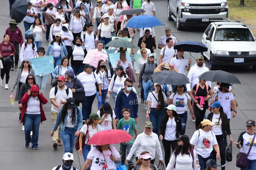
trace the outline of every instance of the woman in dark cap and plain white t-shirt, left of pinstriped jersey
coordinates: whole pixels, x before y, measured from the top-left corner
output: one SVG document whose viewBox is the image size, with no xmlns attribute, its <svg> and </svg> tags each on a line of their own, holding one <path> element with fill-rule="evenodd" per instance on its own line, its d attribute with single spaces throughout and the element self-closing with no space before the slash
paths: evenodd
<svg viewBox="0 0 256 170">
<path fill-rule="evenodd" d="M 92 104 L 96 96 L 96 85 L 99 87 L 99 96 L 101 96 L 101 83 L 99 76 L 92 72 L 93 66 L 85 64 L 84 72 L 80 73 L 77 78 L 82 82 L 85 88 L 85 101 L 82 102 L 83 120 L 87 120 L 92 112 Z"/>
</svg>

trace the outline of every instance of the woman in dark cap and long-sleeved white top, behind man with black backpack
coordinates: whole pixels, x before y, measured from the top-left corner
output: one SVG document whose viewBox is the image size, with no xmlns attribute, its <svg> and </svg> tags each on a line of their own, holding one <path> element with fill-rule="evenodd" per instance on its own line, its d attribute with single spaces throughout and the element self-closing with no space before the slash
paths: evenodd
<svg viewBox="0 0 256 170">
<path fill-rule="evenodd" d="M 70 19 L 69 30 L 72 32 L 74 40 L 81 38 L 81 32 L 85 26 L 84 17 L 81 16 L 79 9 L 75 9 L 75 15 Z M 73 41 L 75 44 L 75 41 Z"/>
</svg>

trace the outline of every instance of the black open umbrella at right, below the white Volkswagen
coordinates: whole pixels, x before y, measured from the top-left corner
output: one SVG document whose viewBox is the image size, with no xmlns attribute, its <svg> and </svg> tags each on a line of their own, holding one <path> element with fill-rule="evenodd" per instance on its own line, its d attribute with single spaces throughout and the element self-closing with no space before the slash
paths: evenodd
<svg viewBox="0 0 256 170">
<path fill-rule="evenodd" d="M 213 82 L 241 84 L 236 76 L 222 70 L 206 71 L 198 78 L 201 80 L 208 80 Z"/>
</svg>

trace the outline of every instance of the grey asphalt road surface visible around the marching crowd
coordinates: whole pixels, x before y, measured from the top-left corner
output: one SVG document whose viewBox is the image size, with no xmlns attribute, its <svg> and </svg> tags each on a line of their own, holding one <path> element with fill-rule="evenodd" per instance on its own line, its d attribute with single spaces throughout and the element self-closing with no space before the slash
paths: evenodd
<svg viewBox="0 0 256 170">
<path fill-rule="evenodd" d="M 156 5 L 156 16 L 159 18 L 164 25 L 154 28 L 156 33 L 156 44 L 158 44 L 158 40 L 161 36 L 164 35 L 164 29 L 166 27 L 170 27 L 172 34 L 178 39 L 178 41 L 192 40 L 192 41 L 201 41 L 202 34 L 206 28 L 194 27 L 185 29 L 185 31 L 177 31 L 175 28 L 174 21 L 168 21 L 167 19 L 167 5 L 165 0 L 154 0 L 152 1 Z M 93 4 L 94 5 L 94 4 Z M 9 4 L 8 1 L 0 1 L 0 38 L 5 34 L 5 29 L 9 27 Z M 18 27 L 24 31 L 23 22 L 18 25 Z M 135 33 L 134 44 L 137 44 L 139 39 L 139 33 Z M 3 39 L 2 39 L 3 40 Z M 47 49 L 48 43 L 43 41 L 43 47 Z M 159 58 L 160 50 L 156 49 L 157 58 Z M 185 57 L 189 57 L 189 54 L 185 52 Z M 195 58 L 199 54 L 192 54 L 192 64 L 195 63 Z M 157 62 L 158 63 L 158 62 Z M 206 60 L 205 64 L 209 67 L 209 61 Z M 240 132 L 245 131 L 245 122 L 248 119 L 255 119 L 255 72 L 252 71 L 252 67 L 222 67 L 222 70 L 228 71 L 235 76 L 238 77 L 240 84 L 234 84 L 234 92 L 235 98 L 238 103 L 237 107 L 237 116 L 235 118 L 231 118 L 231 132 L 234 141 L 237 141 Z M 54 166 L 60 165 L 62 162 L 62 155 L 64 153 L 64 147 L 59 146 L 58 150 L 53 150 L 52 141 L 50 137 L 50 131 L 52 129 L 51 120 L 50 120 L 50 100 L 47 104 L 43 106 L 43 109 L 46 113 L 47 121 L 44 121 L 42 125 L 40 125 L 39 132 L 39 149 L 33 150 L 30 147 L 25 148 L 24 143 L 24 132 L 21 127 L 22 124 L 18 121 L 19 109 L 18 102 L 15 102 L 14 105 L 11 105 L 9 95 L 11 93 L 10 89 L 14 82 L 17 70 L 10 72 L 10 80 L 9 80 L 9 90 L 5 90 L 4 87 L 0 87 L 0 159 L 2 163 L 0 164 L 0 169 L 52 169 Z M 137 83 L 134 83 L 135 86 Z M 215 83 L 212 83 L 214 86 Z M 50 77 L 47 83 L 45 96 L 49 98 L 50 92 Z M 139 91 L 139 89 L 137 89 Z M 112 101 L 112 100 L 110 100 Z M 95 99 L 93 104 L 93 111 L 97 111 L 97 100 Z M 209 113 L 207 111 L 206 115 Z M 138 134 L 143 132 L 143 125 L 146 119 L 146 110 L 143 105 L 139 106 L 138 113 L 138 123 L 137 129 Z M 188 113 L 190 115 L 190 113 Z M 192 118 L 188 116 L 187 121 L 187 129 L 186 135 L 189 137 L 192 136 L 195 131 L 195 124 L 192 122 Z M 118 145 L 115 145 L 117 149 L 119 149 Z M 163 149 L 163 148 L 162 148 Z M 239 149 L 235 147 L 233 144 L 233 161 L 227 162 L 226 169 L 238 169 L 235 165 L 236 154 L 239 152 Z M 164 154 L 164 153 L 163 153 Z M 84 160 L 81 155 L 78 155 L 77 152 L 74 151 L 75 161 L 73 165 L 80 169 L 80 165 L 83 166 Z M 157 161 L 156 161 L 157 162 Z M 220 164 L 220 161 L 217 161 Z"/>
</svg>

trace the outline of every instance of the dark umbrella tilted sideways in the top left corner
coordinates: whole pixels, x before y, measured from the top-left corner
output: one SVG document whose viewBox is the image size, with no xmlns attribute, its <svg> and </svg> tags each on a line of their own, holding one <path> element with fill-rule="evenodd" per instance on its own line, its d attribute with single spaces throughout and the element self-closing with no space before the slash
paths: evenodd
<svg viewBox="0 0 256 170">
<path fill-rule="evenodd" d="M 17 23 L 20 23 L 27 15 L 28 2 L 26 0 L 16 0 L 10 10 L 10 16 L 15 19 Z"/>
</svg>

